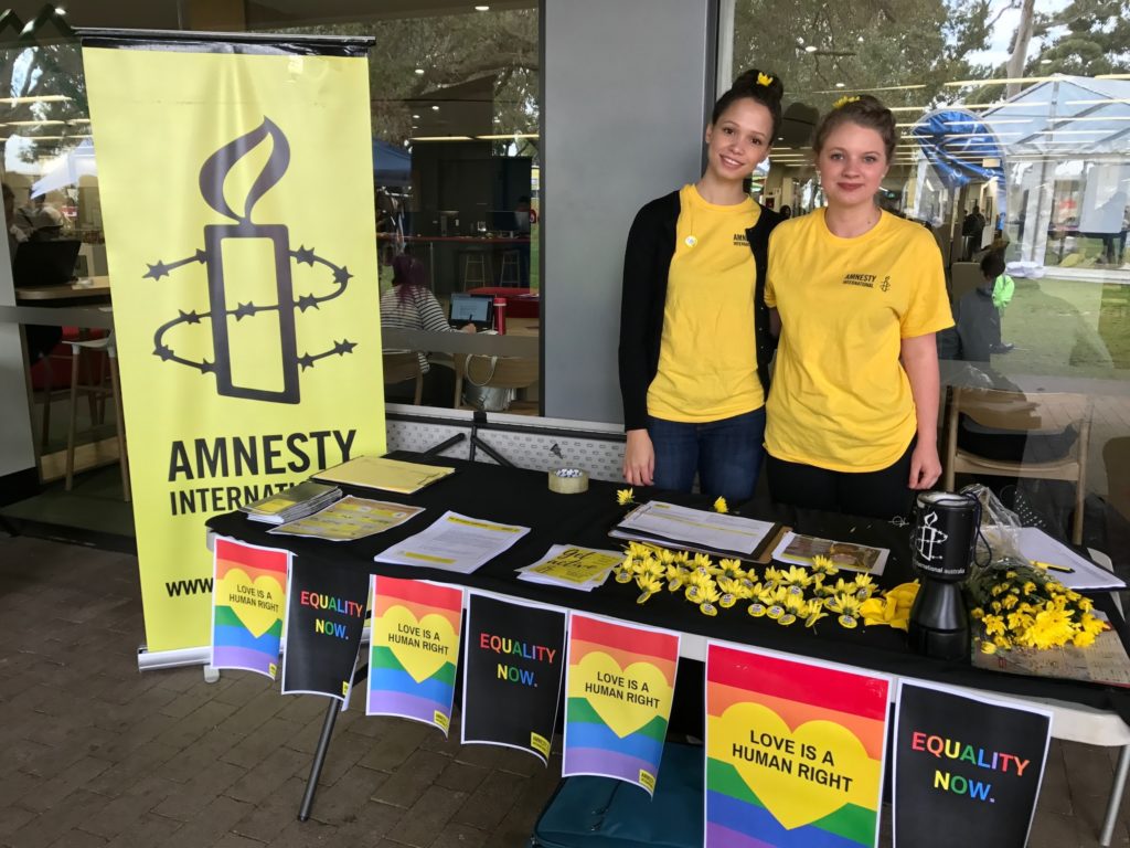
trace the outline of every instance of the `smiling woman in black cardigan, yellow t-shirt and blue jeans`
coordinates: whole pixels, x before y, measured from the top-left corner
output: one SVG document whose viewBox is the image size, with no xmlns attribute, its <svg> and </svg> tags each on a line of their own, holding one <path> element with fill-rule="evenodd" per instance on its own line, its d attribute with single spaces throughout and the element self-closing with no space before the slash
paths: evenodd
<svg viewBox="0 0 1130 848">
<path fill-rule="evenodd" d="M 781 220 L 744 182 L 768 156 L 784 88 L 739 76 L 706 127 L 706 170 L 645 205 L 628 233 L 619 377 L 632 485 L 748 500 L 760 470 L 774 340 L 764 305 Z"/>
</svg>

